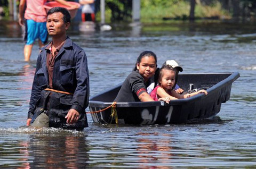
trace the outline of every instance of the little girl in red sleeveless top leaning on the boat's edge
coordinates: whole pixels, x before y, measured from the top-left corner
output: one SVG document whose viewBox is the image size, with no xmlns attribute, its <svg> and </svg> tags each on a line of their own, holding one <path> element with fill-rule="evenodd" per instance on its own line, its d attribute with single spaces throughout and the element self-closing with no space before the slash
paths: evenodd
<svg viewBox="0 0 256 169">
<path fill-rule="evenodd" d="M 197 94 L 204 93 L 207 95 L 206 90 L 199 90 L 191 94 L 181 95 L 175 92 L 174 87 L 177 83 L 177 72 L 170 65 L 163 65 L 159 71 L 158 86 L 156 86 L 150 93 L 150 96 L 155 100 L 158 98 L 166 98 L 165 102 L 169 103 L 170 100 L 188 98 Z"/>
</svg>

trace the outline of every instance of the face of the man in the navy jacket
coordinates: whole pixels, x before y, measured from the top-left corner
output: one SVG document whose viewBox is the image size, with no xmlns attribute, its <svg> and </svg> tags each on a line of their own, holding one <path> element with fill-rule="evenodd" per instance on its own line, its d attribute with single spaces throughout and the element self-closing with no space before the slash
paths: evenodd
<svg viewBox="0 0 256 169">
<path fill-rule="evenodd" d="M 47 16 L 46 27 L 49 35 L 61 36 L 66 35 L 70 23 L 63 22 L 63 14 L 61 12 L 55 12 Z"/>
</svg>

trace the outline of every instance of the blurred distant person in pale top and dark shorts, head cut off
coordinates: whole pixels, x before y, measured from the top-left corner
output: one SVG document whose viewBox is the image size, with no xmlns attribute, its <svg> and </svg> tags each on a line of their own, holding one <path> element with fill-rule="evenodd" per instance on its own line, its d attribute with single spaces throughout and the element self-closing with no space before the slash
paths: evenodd
<svg viewBox="0 0 256 169">
<path fill-rule="evenodd" d="M 95 22 L 95 4 L 94 0 L 79 0 L 82 7 L 82 22 Z"/>
</svg>

